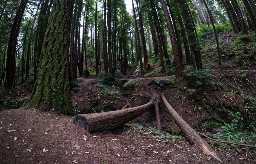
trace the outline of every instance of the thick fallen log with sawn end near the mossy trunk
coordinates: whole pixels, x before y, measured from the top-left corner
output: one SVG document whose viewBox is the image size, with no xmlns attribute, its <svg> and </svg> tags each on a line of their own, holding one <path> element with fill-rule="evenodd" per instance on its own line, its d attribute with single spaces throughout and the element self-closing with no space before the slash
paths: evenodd
<svg viewBox="0 0 256 164">
<path fill-rule="evenodd" d="M 88 132 L 107 131 L 116 129 L 154 106 L 154 99 L 141 106 L 134 108 L 123 109 L 118 111 L 92 113 L 92 114 L 78 114 L 74 118 L 74 123 L 82 126 Z"/>
</svg>

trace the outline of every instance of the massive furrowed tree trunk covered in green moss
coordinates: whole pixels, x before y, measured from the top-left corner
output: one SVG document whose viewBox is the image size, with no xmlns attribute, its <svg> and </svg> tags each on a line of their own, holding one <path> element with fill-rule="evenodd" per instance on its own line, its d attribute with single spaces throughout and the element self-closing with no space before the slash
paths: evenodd
<svg viewBox="0 0 256 164">
<path fill-rule="evenodd" d="M 29 106 L 71 110 L 69 88 L 69 34 L 74 0 L 55 0 L 42 46 L 37 80 Z"/>
</svg>

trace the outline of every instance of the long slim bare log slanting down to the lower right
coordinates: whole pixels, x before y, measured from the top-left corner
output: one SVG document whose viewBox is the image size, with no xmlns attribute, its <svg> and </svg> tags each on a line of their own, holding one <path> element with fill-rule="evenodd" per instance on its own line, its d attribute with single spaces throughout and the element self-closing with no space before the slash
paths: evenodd
<svg viewBox="0 0 256 164">
<path fill-rule="evenodd" d="M 222 162 L 221 159 L 218 157 L 216 152 L 207 144 L 200 136 L 199 134 L 190 127 L 190 125 L 184 121 L 181 116 L 172 108 L 172 106 L 168 103 L 166 100 L 164 94 L 161 94 L 161 98 L 163 100 L 163 103 L 167 107 L 168 111 L 171 113 L 173 120 L 176 122 L 178 127 L 181 129 L 181 131 L 184 133 L 185 136 L 188 136 L 188 140 L 199 146 L 199 149 L 202 149 L 203 152 L 207 155 L 213 155 L 218 161 Z"/>
</svg>

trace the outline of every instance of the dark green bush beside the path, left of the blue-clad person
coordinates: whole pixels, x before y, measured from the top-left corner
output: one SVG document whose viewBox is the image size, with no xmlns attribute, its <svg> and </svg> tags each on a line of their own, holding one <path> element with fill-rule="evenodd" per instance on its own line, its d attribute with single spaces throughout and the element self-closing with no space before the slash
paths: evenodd
<svg viewBox="0 0 256 164">
<path fill-rule="evenodd" d="M 109 85 L 114 85 L 114 84 L 118 85 L 120 77 L 121 75 L 118 70 L 115 70 L 114 78 L 112 73 L 105 74 L 105 72 L 100 72 L 98 75 L 98 78 L 102 78 L 101 83 L 109 84 Z"/>
</svg>

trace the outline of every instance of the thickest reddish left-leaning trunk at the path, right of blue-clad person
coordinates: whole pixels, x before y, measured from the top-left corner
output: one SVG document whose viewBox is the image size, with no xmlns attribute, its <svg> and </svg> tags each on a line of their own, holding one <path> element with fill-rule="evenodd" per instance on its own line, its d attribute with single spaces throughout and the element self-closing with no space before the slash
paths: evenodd
<svg viewBox="0 0 256 164">
<path fill-rule="evenodd" d="M 173 30 L 173 26 L 172 26 L 172 20 L 170 18 L 169 12 L 167 10 L 166 4 L 164 2 L 164 0 L 161 0 L 161 4 L 163 7 L 163 14 L 167 23 L 167 28 L 169 31 L 169 35 L 171 38 L 171 43 L 172 43 L 172 51 L 173 51 L 173 58 L 175 61 L 175 76 L 176 77 L 181 77 L 182 74 L 182 63 L 181 63 L 181 55 L 179 54 L 179 48 L 178 48 L 178 44 L 175 38 L 175 33 Z"/>
</svg>

